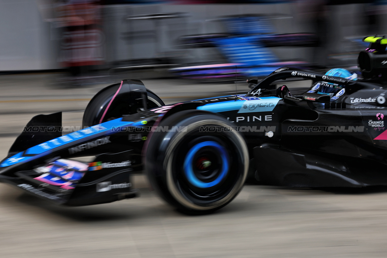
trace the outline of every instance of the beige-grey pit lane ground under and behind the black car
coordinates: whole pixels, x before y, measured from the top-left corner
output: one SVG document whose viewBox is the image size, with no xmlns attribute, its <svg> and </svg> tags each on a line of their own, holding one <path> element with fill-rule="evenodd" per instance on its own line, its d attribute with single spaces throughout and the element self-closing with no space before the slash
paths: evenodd
<svg viewBox="0 0 387 258">
<path fill-rule="evenodd" d="M 233 84 L 144 83 L 166 103 L 235 91 Z M 46 74 L 0 76 L 0 155 L 35 114 L 64 110 L 63 125 L 80 125 L 88 99 L 103 86 L 57 87 Z M 247 90 L 245 84 L 237 87 Z M 69 208 L 0 184 L 0 257 L 387 256 L 386 188 L 332 192 L 246 185 L 218 212 L 187 216 L 149 191 L 144 176 L 135 176 L 134 186 L 140 198 Z"/>
</svg>

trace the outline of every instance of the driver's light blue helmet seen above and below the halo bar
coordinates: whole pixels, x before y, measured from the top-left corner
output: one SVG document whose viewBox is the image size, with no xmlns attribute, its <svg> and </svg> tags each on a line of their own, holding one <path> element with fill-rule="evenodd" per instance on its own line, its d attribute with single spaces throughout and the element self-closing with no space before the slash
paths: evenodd
<svg viewBox="0 0 387 258">
<path fill-rule="evenodd" d="M 358 75 L 354 72 L 348 71 L 344 68 L 333 68 L 330 69 L 328 72 L 325 73 L 325 75 L 328 76 L 334 76 L 334 77 L 341 77 L 345 78 L 347 80 L 357 80 Z M 317 82 L 313 85 L 312 91 L 317 91 L 316 93 L 319 94 L 326 94 L 330 95 L 331 97 L 334 96 L 337 92 L 339 92 L 341 89 L 343 89 L 344 85 L 339 84 L 333 84 L 330 82 Z"/>
</svg>

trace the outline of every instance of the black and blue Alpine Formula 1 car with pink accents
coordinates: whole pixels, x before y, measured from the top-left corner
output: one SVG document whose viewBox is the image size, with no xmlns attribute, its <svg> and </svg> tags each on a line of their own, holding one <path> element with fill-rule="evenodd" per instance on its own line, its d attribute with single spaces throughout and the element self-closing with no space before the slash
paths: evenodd
<svg viewBox="0 0 387 258">
<path fill-rule="evenodd" d="M 365 41 L 362 79 L 283 67 L 249 78 L 248 94 L 171 105 L 123 80 L 91 99 L 82 130 L 62 135 L 61 113 L 32 118 L 0 179 L 58 204 L 90 205 L 136 196 L 130 177 L 145 168 L 164 200 L 187 213 L 231 202 L 249 173 L 270 185 L 387 185 L 387 39 Z M 295 77 L 313 81 L 303 95 L 273 86 Z"/>
</svg>

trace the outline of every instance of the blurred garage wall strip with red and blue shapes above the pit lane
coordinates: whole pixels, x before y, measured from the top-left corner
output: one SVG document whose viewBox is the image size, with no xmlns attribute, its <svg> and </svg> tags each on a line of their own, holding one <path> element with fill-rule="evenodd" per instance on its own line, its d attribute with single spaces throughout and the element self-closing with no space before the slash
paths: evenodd
<svg viewBox="0 0 387 258">
<path fill-rule="evenodd" d="M 384 0 L 3 0 L 0 73 L 57 83 L 123 77 L 228 80 L 277 67 L 356 66 L 384 35 Z M 236 66 L 236 69 L 235 69 Z"/>
</svg>

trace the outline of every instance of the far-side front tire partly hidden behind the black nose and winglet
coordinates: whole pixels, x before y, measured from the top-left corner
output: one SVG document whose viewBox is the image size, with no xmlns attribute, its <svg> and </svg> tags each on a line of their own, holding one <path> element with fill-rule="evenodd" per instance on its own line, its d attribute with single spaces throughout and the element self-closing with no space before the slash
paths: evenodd
<svg viewBox="0 0 387 258">
<path fill-rule="evenodd" d="M 103 115 L 103 111 L 106 109 L 106 107 L 110 103 L 111 98 L 114 96 L 114 94 L 116 93 L 116 91 L 118 90 L 119 87 L 120 87 L 119 83 L 109 85 L 109 86 L 105 87 L 104 89 L 102 89 L 101 91 L 99 91 L 91 99 L 91 101 L 87 105 L 86 110 L 83 114 L 82 128 L 99 124 L 99 121 L 101 120 L 101 117 Z M 148 96 L 148 99 L 147 99 L 147 108 L 148 109 L 157 108 L 159 106 L 165 105 L 164 102 L 156 94 L 149 91 L 148 89 L 147 89 L 147 96 Z M 113 111 L 114 116 L 113 117 L 112 116 L 104 117 L 102 122 L 109 121 L 112 118 L 119 118 L 122 115 L 127 114 L 126 107 L 127 107 L 127 103 L 122 103 L 122 105 L 120 104 L 119 106 L 116 106 L 114 111 Z M 136 107 L 132 108 L 132 110 L 134 110 L 133 112 L 135 112 L 136 109 L 137 109 Z M 129 114 L 132 114 L 132 113 L 129 113 Z"/>
</svg>

